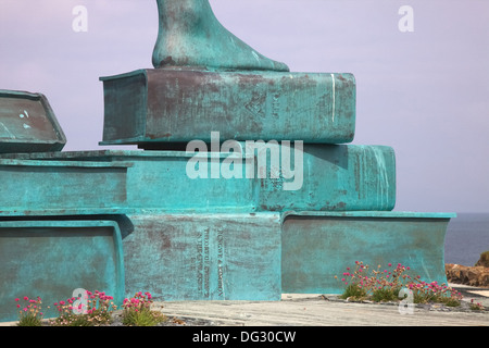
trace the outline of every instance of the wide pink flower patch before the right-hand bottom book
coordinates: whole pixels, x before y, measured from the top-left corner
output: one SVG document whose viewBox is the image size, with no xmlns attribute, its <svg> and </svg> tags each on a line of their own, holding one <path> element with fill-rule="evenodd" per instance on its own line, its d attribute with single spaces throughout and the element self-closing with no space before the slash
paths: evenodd
<svg viewBox="0 0 489 348">
<path fill-rule="evenodd" d="M 369 266 L 362 261 L 355 261 L 354 270 L 347 268 L 347 272 L 342 274 L 341 282 L 347 286 L 342 297 L 391 301 L 398 299 L 402 288 L 408 288 L 412 290 L 416 303 L 435 301 L 448 306 L 460 304 L 462 295 L 448 287 L 447 284 L 424 282 L 419 275 L 409 274 L 411 269 L 401 263 L 398 263 L 397 266 L 389 263 L 388 266 L 388 269 L 383 269 L 381 265 L 378 265 L 368 274 Z"/>
</svg>

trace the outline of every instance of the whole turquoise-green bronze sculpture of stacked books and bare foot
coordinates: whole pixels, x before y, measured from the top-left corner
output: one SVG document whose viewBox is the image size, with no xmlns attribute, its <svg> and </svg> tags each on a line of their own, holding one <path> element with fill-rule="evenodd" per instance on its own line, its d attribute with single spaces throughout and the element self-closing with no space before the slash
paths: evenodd
<svg viewBox="0 0 489 348">
<path fill-rule="evenodd" d="M 15 297 L 77 287 L 117 299 L 338 294 L 334 276 L 355 260 L 446 281 L 454 214 L 393 212 L 393 149 L 344 145 L 352 74 L 289 72 L 206 0 L 156 4 L 155 69 L 101 78 L 101 144 L 146 151 L 61 152 L 46 99 L 0 91 L 0 320 L 16 319 Z"/>
</svg>

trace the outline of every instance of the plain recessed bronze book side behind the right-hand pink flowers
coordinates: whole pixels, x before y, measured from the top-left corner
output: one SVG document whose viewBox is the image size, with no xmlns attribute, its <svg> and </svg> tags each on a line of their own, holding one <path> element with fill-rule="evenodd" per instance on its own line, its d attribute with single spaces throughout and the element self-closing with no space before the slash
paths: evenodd
<svg viewBox="0 0 489 348">
<path fill-rule="evenodd" d="M 444 236 L 454 214 L 412 212 L 289 213 L 281 236 L 281 290 L 341 294 L 355 261 L 410 266 L 428 283 L 447 283 Z M 335 278 L 337 276 L 337 278 Z M 348 277 L 346 277 L 348 278 Z"/>
</svg>

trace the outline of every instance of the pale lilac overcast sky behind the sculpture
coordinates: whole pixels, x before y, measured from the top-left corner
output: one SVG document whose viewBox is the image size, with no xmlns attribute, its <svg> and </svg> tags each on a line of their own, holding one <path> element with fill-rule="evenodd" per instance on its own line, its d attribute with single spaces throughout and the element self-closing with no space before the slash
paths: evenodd
<svg viewBox="0 0 489 348">
<path fill-rule="evenodd" d="M 489 1 L 211 4 L 231 33 L 292 72 L 355 75 L 353 144 L 396 150 L 396 210 L 489 212 Z M 73 28 L 77 5 L 86 32 Z M 99 77 L 152 67 L 156 34 L 154 0 L 1 0 L 0 89 L 45 94 L 64 151 L 108 148 L 98 145 Z"/>
</svg>

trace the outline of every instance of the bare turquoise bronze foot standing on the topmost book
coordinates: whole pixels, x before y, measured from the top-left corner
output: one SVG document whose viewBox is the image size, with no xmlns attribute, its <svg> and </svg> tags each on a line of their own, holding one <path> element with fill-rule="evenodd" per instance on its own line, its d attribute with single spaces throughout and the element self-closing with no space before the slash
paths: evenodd
<svg viewBox="0 0 489 348">
<path fill-rule="evenodd" d="M 288 72 L 229 33 L 215 17 L 209 0 L 156 0 L 159 34 L 153 66 Z"/>
</svg>

